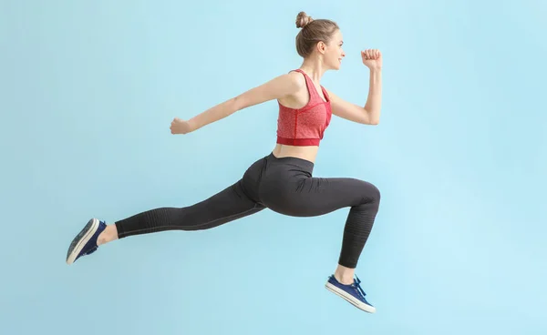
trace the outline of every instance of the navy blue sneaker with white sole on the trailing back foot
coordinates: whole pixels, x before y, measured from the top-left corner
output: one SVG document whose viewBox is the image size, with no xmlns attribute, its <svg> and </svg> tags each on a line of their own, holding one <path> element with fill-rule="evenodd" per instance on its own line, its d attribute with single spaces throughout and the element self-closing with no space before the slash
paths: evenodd
<svg viewBox="0 0 547 335">
<path fill-rule="evenodd" d="M 86 227 L 81 229 L 76 238 L 70 243 L 67 252 L 67 264 L 72 264 L 80 257 L 94 253 L 98 249 L 98 235 L 105 228 L 107 228 L 107 224 L 104 221 L 91 218 Z"/>
</svg>

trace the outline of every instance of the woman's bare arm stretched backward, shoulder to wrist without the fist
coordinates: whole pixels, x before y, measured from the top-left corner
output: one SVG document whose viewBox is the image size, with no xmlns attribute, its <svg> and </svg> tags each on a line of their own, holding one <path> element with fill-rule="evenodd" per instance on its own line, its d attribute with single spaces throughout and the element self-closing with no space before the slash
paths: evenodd
<svg viewBox="0 0 547 335">
<path fill-rule="evenodd" d="M 263 102 L 284 96 L 293 95 L 303 85 L 305 85 L 303 77 L 298 73 L 290 72 L 282 76 L 276 76 L 274 79 L 261 86 L 256 86 L 239 96 L 232 97 L 231 99 L 192 117 L 188 120 L 187 126 L 189 127 L 189 131 L 187 132 L 197 130 L 224 117 L 229 117 L 233 113 L 244 108 L 262 104 Z"/>
</svg>

